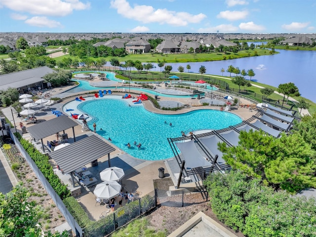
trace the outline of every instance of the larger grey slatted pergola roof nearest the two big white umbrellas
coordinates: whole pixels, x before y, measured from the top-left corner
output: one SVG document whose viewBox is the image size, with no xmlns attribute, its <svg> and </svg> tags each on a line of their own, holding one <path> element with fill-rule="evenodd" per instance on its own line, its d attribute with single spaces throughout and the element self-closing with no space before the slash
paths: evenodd
<svg viewBox="0 0 316 237">
<path fill-rule="evenodd" d="M 112 151 L 115 151 L 113 146 L 92 135 L 48 155 L 68 174 Z"/>
</svg>

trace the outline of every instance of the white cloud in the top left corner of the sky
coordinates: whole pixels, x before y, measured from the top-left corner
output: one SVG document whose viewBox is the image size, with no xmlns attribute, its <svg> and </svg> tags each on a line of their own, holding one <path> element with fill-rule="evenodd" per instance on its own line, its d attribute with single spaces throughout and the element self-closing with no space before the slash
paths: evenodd
<svg viewBox="0 0 316 237">
<path fill-rule="evenodd" d="M 73 10 L 90 7 L 89 2 L 83 3 L 80 0 L 1 0 L 1 4 L 13 11 L 49 16 L 66 16 Z"/>
</svg>

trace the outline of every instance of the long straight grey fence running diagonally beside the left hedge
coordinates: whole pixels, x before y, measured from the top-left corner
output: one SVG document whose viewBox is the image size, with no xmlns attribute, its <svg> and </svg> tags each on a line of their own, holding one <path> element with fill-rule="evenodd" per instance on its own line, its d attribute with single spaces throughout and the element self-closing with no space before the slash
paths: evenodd
<svg viewBox="0 0 316 237">
<path fill-rule="evenodd" d="M 35 164 L 31 156 L 26 152 L 24 147 L 21 145 L 19 140 L 12 134 L 11 130 L 9 129 L 10 137 L 14 141 L 15 145 L 20 150 L 21 154 L 24 156 L 30 167 L 33 169 L 34 173 L 44 186 L 44 188 L 47 190 L 48 194 L 51 196 L 53 201 L 55 202 L 56 206 L 60 210 L 60 212 L 64 215 L 66 221 L 71 226 L 72 230 L 76 233 L 77 236 L 82 236 L 82 229 L 74 219 L 74 217 L 70 214 L 70 212 L 67 210 L 65 204 L 61 200 L 61 198 L 58 196 L 58 194 L 55 192 L 55 190 L 51 187 L 51 185 L 48 183 L 48 181 L 45 179 L 44 175 L 41 173 L 38 166 Z"/>
</svg>

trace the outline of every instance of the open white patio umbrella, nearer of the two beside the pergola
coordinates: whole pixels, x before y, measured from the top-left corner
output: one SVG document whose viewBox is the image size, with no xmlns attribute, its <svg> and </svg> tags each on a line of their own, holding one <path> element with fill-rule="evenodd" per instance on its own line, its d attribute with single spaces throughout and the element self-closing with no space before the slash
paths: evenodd
<svg viewBox="0 0 316 237">
<path fill-rule="evenodd" d="M 116 181 L 106 181 L 98 184 L 93 193 L 101 199 L 110 199 L 118 195 L 121 189 L 120 184 Z"/>
</svg>

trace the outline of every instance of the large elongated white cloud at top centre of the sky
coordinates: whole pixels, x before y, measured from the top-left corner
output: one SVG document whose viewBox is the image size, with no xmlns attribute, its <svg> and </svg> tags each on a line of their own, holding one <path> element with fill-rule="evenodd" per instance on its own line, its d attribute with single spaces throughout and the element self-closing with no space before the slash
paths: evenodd
<svg viewBox="0 0 316 237">
<path fill-rule="evenodd" d="M 188 12 L 175 12 L 167 9 L 155 9 L 149 5 L 130 6 L 126 0 L 111 0 L 111 7 L 117 9 L 118 14 L 128 19 L 143 23 L 157 22 L 172 26 L 186 26 L 189 23 L 199 23 L 206 15 L 199 13 L 192 15 Z"/>
</svg>

